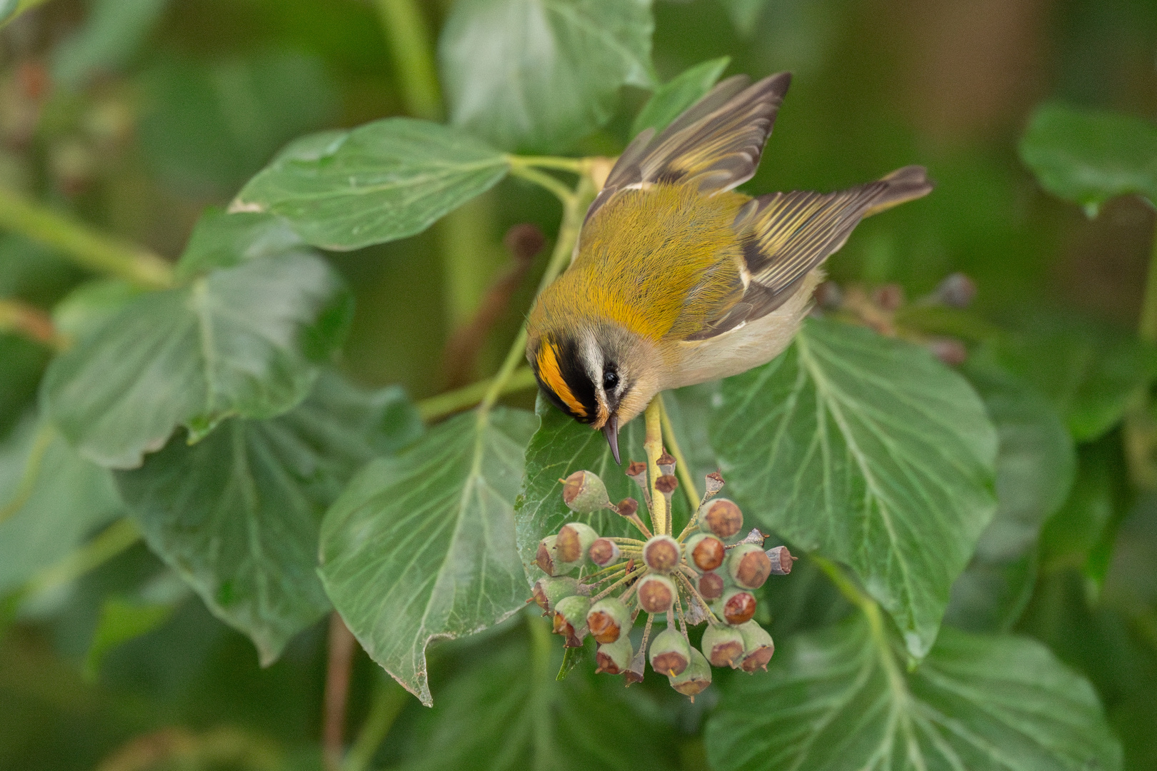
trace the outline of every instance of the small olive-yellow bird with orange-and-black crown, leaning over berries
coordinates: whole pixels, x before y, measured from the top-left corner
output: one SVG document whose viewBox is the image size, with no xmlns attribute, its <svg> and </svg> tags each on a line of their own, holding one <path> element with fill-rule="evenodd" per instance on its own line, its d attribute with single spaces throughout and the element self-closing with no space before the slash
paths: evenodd
<svg viewBox="0 0 1157 771">
<path fill-rule="evenodd" d="M 543 393 L 600 429 L 661 391 L 738 375 L 795 336 L 824 260 L 864 217 L 928 194 L 922 166 L 835 193 L 734 192 L 759 166 L 791 82 L 720 82 L 662 133 L 640 133 L 591 202 L 570 266 L 530 311 Z"/>
</svg>

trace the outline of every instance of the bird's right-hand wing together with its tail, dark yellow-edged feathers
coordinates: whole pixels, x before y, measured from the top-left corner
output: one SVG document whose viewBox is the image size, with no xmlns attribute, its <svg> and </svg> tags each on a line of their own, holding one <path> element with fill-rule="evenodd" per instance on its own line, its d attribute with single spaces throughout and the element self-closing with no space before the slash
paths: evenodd
<svg viewBox="0 0 1157 771">
<path fill-rule="evenodd" d="M 835 193 L 772 193 L 736 215 L 747 286 L 714 323 L 687 338 L 703 340 L 771 313 L 790 298 L 804 276 L 837 252 L 867 216 L 931 192 L 923 166 L 905 166 L 867 185 Z"/>
</svg>

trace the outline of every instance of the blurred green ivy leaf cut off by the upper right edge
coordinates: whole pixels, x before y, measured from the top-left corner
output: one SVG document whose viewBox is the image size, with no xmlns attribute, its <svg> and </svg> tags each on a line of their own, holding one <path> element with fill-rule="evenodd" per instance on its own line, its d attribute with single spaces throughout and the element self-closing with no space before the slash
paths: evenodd
<svg viewBox="0 0 1157 771">
<path fill-rule="evenodd" d="M 1157 205 L 1157 125 L 1063 104 L 1037 108 L 1020 160 L 1053 195 L 1096 216 L 1100 205 L 1137 193 Z"/>
</svg>

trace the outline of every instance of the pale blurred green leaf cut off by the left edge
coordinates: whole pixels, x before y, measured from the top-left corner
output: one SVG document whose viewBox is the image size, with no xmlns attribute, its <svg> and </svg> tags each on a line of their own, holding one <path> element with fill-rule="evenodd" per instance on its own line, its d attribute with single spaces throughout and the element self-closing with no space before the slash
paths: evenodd
<svg viewBox="0 0 1157 771">
<path fill-rule="evenodd" d="M 0 594 L 124 514 L 108 470 L 27 420 L 0 445 Z"/>
</svg>

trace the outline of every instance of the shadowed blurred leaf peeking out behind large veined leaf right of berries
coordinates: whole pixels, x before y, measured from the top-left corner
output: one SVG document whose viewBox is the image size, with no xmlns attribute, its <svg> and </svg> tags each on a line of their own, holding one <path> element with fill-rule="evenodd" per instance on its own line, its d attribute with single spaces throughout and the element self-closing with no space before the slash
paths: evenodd
<svg viewBox="0 0 1157 771">
<path fill-rule="evenodd" d="M 1008 631 L 1037 580 L 1041 525 L 1068 496 L 1073 438 L 1048 400 L 983 354 L 964 366 L 996 425 L 996 514 L 967 570 L 952 584 L 944 620 L 972 631 Z"/>
</svg>

